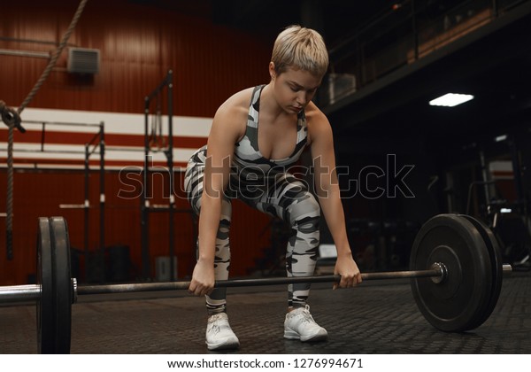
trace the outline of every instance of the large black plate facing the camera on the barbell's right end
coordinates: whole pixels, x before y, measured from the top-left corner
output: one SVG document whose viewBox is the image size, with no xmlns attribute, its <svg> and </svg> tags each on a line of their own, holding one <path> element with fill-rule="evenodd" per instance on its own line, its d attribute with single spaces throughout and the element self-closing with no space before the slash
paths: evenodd
<svg viewBox="0 0 531 372">
<path fill-rule="evenodd" d="M 410 267 L 426 270 L 442 262 L 448 275 L 442 283 L 412 279 L 413 298 L 435 328 L 448 332 L 471 329 L 489 303 L 492 274 L 489 252 L 480 232 L 456 214 L 440 214 L 419 230 Z"/>
</svg>

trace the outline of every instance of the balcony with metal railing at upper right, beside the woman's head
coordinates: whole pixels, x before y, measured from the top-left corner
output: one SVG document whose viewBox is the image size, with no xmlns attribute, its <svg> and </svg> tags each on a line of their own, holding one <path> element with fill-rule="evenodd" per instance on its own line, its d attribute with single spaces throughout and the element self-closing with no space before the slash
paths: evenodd
<svg viewBox="0 0 531 372">
<path fill-rule="evenodd" d="M 389 6 L 329 50 L 319 103 L 332 105 L 528 2 L 404 0 Z"/>
</svg>

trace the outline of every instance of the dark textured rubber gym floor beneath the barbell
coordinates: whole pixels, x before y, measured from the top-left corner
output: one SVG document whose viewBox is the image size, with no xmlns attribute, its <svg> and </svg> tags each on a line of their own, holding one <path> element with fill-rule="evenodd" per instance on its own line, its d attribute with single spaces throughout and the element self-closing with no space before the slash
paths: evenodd
<svg viewBox="0 0 531 372">
<path fill-rule="evenodd" d="M 504 278 L 493 314 L 479 328 L 445 333 L 419 313 L 408 280 L 366 282 L 351 290 L 312 285 L 313 317 L 327 342 L 282 337 L 285 286 L 228 290 L 237 351 L 204 345 L 204 299 L 185 291 L 90 295 L 73 305 L 72 350 L 81 354 L 531 353 L 531 273 Z M 0 353 L 37 353 L 35 305 L 0 306 Z"/>
</svg>

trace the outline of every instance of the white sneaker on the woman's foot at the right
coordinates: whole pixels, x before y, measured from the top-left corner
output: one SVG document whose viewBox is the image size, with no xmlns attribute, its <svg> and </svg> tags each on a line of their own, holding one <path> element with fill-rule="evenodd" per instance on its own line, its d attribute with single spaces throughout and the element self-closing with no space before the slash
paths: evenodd
<svg viewBox="0 0 531 372">
<path fill-rule="evenodd" d="M 284 322 L 284 338 L 290 340 L 325 341 L 328 338 L 327 329 L 317 324 L 310 314 L 310 306 L 296 308 L 286 314 Z"/>
</svg>

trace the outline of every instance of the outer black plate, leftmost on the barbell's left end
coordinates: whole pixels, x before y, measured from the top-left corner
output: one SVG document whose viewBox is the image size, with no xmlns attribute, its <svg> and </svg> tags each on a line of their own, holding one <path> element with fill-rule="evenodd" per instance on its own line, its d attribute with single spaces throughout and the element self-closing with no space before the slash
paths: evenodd
<svg viewBox="0 0 531 372">
<path fill-rule="evenodd" d="M 50 222 L 39 218 L 37 233 L 37 284 L 41 298 L 37 301 L 37 349 L 39 353 L 54 353 L 55 313 L 53 293 L 53 265 L 51 262 Z"/>
</svg>

